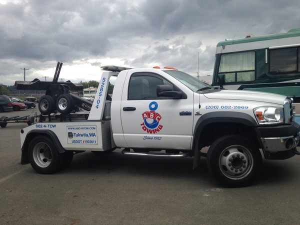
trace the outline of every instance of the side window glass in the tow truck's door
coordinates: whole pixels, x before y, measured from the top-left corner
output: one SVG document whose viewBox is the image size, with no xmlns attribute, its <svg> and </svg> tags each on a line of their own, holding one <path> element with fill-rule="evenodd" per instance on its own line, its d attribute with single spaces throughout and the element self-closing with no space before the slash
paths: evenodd
<svg viewBox="0 0 300 225">
<path fill-rule="evenodd" d="M 129 81 L 128 100 L 158 99 L 156 86 L 169 81 L 155 75 L 132 75 Z"/>
</svg>

